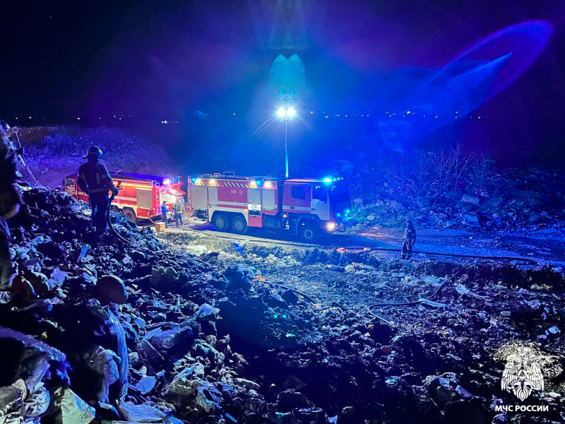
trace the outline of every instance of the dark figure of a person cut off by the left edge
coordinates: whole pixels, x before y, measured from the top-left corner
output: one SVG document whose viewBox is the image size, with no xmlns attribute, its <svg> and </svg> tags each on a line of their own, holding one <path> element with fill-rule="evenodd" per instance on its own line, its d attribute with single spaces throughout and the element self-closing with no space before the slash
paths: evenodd
<svg viewBox="0 0 565 424">
<path fill-rule="evenodd" d="M 0 125 L 0 290 L 10 286 L 12 264 L 10 257 L 10 230 L 6 219 L 18 213 L 23 204 L 20 192 L 16 187 L 18 172 L 16 171 L 16 151 L 8 139 L 8 125 L 2 121 Z M 0 302 L 5 299 L 0 297 Z M 5 301 L 5 300 L 4 300 Z"/>
</svg>

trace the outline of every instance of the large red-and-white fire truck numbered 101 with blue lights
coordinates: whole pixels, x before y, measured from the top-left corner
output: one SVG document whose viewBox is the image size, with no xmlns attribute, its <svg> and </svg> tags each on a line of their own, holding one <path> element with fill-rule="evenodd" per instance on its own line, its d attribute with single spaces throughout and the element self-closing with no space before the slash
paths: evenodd
<svg viewBox="0 0 565 424">
<path fill-rule="evenodd" d="M 245 234 L 249 228 L 273 228 L 315 242 L 343 227 L 350 199 L 343 178 L 237 177 L 206 174 L 189 177 L 189 203 L 196 216 L 220 231 Z"/>
</svg>

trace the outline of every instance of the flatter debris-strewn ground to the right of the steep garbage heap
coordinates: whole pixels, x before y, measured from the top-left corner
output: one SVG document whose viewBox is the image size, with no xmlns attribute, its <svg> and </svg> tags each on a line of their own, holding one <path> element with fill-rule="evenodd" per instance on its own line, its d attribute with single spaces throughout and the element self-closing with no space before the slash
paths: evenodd
<svg viewBox="0 0 565 424">
<path fill-rule="evenodd" d="M 194 233 L 166 238 L 174 245 L 205 242 Z M 219 266 L 239 261 L 254 269 L 256 284 L 272 281 L 317 301 L 298 316 L 311 324 L 311 331 L 296 333 L 299 346 L 281 350 L 239 341 L 252 365 L 250 378 L 270 388 L 266 399 L 279 401 L 281 417 L 292 402 L 294 408 L 309 408 L 311 421 L 305 422 L 316 423 L 326 422 L 319 418 L 324 413 L 338 423 L 565 418 L 565 398 L 558 394 L 565 389 L 565 279 L 559 266 L 456 259 L 414 263 L 377 252 L 254 242 L 236 248 L 225 240 L 210 245 L 224 248 L 211 259 Z M 371 308 L 371 314 L 368 300 L 387 305 Z M 291 302 L 283 319 L 297 320 Z M 502 391 L 501 378 L 509 352 L 521 346 L 535 352 L 544 370 L 545 390 L 528 399 L 548 406 L 545 415 L 506 416 L 495 410 L 518 402 Z M 311 409 L 316 407 L 322 411 Z"/>
</svg>

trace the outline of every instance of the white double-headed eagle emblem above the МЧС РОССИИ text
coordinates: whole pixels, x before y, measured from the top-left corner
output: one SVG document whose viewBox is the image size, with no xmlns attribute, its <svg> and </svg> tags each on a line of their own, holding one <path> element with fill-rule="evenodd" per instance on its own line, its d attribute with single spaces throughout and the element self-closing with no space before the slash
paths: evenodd
<svg viewBox="0 0 565 424">
<path fill-rule="evenodd" d="M 502 373 L 502 390 L 512 391 L 523 401 L 533 390 L 543 390 L 542 369 L 535 363 L 535 355 L 523 349 L 516 355 L 509 355 Z"/>
</svg>

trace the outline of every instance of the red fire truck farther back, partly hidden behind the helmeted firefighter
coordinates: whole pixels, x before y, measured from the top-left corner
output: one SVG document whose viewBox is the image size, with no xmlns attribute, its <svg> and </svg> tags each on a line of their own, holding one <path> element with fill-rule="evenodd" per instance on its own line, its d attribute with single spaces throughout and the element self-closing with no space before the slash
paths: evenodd
<svg viewBox="0 0 565 424">
<path fill-rule="evenodd" d="M 163 201 L 170 210 L 175 199 L 185 194 L 180 189 L 180 177 L 164 178 L 121 171 L 110 172 L 110 175 L 119 189 L 119 194 L 112 201 L 112 208 L 114 211 L 123 211 L 133 221 L 160 215 Z M 78 188 L 76 174 L 67 176 L 63 187 L 75 199 L 88 201 L 88 194 Z"/>
</svg>

